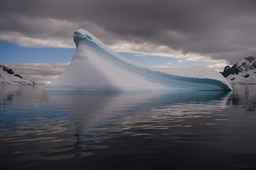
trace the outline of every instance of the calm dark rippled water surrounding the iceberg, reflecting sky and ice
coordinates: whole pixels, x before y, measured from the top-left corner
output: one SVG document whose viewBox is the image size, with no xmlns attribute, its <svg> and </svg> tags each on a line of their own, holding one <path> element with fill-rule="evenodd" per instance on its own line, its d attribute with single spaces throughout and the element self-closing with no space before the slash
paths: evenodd
<svg viewBox="0 0 256 170">
<path fill-rule="evenodd" d="M 0 169 L 256 169 L 256 86 L 0 86 Z"/>
</svg>

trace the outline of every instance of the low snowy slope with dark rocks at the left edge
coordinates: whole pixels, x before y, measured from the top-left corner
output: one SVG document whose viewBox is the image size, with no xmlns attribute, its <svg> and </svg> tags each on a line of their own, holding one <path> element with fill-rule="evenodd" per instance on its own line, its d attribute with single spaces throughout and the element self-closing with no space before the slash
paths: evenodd
<svg viewBox="0 0 256 170">
<path fill-rule="evenodd" d="M 35 85 L 35 82 L 23 79 L 13 70 L 0 64 L 0 85 Z"/>
</svg>

